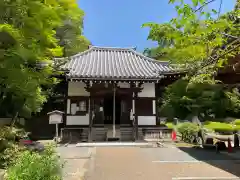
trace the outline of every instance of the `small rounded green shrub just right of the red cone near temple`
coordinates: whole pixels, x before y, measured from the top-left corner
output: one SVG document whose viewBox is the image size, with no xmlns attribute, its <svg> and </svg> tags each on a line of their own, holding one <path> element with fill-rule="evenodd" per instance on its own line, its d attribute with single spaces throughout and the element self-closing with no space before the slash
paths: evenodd
<svg viewBox="0 0 240 180">
<path fill-rule="evenodd" d="M 182 140 L 185 142 L 192 142 L 199 130 L 198 125 L 191 122 L 184 122 L 177 126 L 177 131 L 181 134 Z"/>
</svg>

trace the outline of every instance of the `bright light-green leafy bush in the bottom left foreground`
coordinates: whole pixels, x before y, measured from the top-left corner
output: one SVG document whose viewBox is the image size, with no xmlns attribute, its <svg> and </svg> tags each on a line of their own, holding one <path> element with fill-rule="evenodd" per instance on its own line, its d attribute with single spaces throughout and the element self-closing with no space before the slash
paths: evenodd
<svg viewBox="0 0 240 180">
<path fill-rule="evenodd" d="M 59 157 L 54 147 L 48 146 L 42 153 L 24 151 L 6 173 L 8 180 L 61 180 Z"/>
</svg>

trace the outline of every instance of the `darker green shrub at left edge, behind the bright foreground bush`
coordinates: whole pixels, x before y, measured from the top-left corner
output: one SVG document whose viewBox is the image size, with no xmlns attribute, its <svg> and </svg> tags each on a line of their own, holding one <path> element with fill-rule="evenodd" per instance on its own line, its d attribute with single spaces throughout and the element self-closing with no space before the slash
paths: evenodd
<svg viewBox="0 0 240 180">
<path fill-rule="evenodd" d="M 26 135 L 23 129 L 4 126 L 0 128 L 0 166 L 6 167 L 14 163 L 24 150 L 18 145 L 16 139 Z"/>
</svg>

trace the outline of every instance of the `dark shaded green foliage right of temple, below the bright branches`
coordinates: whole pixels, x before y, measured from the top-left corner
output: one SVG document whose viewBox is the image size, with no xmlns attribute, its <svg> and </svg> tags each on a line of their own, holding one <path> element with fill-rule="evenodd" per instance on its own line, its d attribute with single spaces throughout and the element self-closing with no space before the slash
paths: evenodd
<svg viewBox="0 0 240 180">
<path fill-rule="evenodd" d="M 192 79 L 191 79 L 192 80 Z M 214 84 L 210 78 L 202 82 L 180 79 L 166 88 L 161 113 L 164 116 L 184 119 L 190 116 L 226 117 L 240 111 L 239 93 Z"/>
</svg>

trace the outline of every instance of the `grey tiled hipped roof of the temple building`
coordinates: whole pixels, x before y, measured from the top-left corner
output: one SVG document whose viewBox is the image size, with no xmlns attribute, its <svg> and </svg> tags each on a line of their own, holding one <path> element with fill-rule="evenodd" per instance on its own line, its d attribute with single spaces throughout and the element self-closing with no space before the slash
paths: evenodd
<svg viewBox="0 0 240 180">
<path fill-rule="evenodd" d="M 92 46 L 70 57 L 63 67 L 69 78 L 80 79 L 160 79 L 174 73 L 167 62 L 156 61 L 133 48 Z"/>
</svg>

